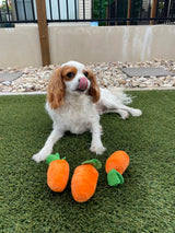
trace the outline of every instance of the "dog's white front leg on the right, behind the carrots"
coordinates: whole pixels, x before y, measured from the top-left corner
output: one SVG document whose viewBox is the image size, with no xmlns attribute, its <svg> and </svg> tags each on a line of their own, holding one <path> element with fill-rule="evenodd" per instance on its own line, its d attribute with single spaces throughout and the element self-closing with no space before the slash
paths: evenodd
<svg viewBox="0 0 175 233">
<path fill-rule="evenodd" d="M 101 141 L 102 126 L 98 121 L 92 124 L 92 142 L 90 150 L 96 154 L 103 154 L 106 148 L 103 147 Z"/>
</svg>

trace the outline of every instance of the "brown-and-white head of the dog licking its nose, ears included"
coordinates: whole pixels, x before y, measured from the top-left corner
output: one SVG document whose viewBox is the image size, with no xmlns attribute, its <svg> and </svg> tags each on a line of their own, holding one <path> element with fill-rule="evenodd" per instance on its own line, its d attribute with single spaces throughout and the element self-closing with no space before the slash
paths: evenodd
<svg viewBox="0 0 175 233">
<path fill-rule="evenodd" d="M 86 94 L 96 103 L 100 100 L 100 86 L 93 72 L 77 61 L 63 63 L 54 72 L 48 84 L 47 100 L 51 108 L 60 107 L 66 94 Z"/>
</svg>

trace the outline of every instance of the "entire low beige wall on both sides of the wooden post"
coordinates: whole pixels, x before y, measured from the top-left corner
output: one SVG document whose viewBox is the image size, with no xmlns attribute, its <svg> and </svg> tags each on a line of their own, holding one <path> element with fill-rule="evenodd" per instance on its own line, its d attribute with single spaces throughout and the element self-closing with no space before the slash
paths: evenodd
<svg viewBox="0 0 175 233">
<path fill-rule="evenodd" d="M 77 25 L 77 24 L 73 24 Z M 49 24 L 51 63 L 67 60 L 175 60 L 175 26 L 59 26 Z M 0 28 L 0 68 L 42 66 L 36 24 Z"/>
</svg>

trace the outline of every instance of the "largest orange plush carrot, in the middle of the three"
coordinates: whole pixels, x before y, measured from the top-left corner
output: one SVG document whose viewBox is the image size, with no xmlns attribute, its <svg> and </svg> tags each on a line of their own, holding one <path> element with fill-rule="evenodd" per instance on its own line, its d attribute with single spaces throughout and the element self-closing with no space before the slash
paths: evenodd
<svg viewBox="0 0 175 233">
<path fill-rule="evenodd" d="M 71 180 L 71 191 L 75 201 L 85 202 L 95 193 L 98 172 L 102 166 L 98 160 L 90 160 L 82 163 L 74 170 Z"/>
</svg>

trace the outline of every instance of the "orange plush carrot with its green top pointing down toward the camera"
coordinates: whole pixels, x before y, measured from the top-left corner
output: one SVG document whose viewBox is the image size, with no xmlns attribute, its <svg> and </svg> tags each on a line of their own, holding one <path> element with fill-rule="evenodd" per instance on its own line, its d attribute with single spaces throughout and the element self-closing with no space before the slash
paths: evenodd
<svg viewBox="0 0 175 233">
<path fill-rule="evenodd" d="M 125 151 L 114 152 L 106 161 L 108 185 L 116 186 L 124 183 L 122 173 L 129 165 L 129 156 Z"/>
</svg>

